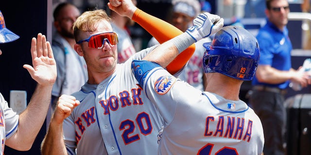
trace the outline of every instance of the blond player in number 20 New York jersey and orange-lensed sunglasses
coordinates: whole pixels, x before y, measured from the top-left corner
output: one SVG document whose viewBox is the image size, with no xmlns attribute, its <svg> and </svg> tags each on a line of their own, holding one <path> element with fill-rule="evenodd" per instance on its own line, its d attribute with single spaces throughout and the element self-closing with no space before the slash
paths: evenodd
<svg viewBox="0 0 311 155">
<path fill-rule="evenodd" d="M 121 16 L 136 21 L 159 42 L 163 43 L 183 34 L 172 25 L 137 9 L 132 0 L 122 0 L 117 7 L 110 3 L 108 6 Z M 202 38 L 223 26 L 223 20 L 216 15 L 208 14 L 204 16 L 204 21 L 201 24 L 206 27 L 207 34 L 201 35 L 196 29 L 189 33 Z M 216 21 L 218 23 L 213 25 Z M 130 69 L 132 60 L 141 60 L 157 47 L 144 49 L 125 63 L 117 64 L 118 36 L 112 31 L 109 18 L 103 10 L 83 13 L 73 27 L 77 42 L 74 47 L 86 60 L 88 81 L 81 91 L 73 93 L 72 96 L 60 97 L 42 144 L 42 154 L 157 154 L 157 134 L 163 125 L 163 119 L 141 92 Z M 193 43 L 195 41 L 190 35 L 185 39 L 193 40 Z M 175 44 L 185 47 L 183 49 L 190 46 L 183 42 Z M 177 75 L 193 52 L 193 46 L 187 48 L 182 52 L 184 55 L 181 53 L 181 57 L 177 57 L 167 66 L 167 70 Z M 171 55 L 165 57 L 173 58 Z M 63 105 L 75 105 L 79 102 L 80 105 L 72 112 L 63 108 Z"/>
</svg>

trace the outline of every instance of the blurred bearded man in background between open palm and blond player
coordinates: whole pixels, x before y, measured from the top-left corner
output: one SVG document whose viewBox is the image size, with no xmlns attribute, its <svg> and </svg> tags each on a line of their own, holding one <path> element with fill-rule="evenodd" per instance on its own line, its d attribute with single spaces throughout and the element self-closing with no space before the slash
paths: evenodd
<svg viewBox="0 0 311 155">
<path fill-rule="evenodd" d="M 73 23 L 80 16 L 78 8 L 68 2 L 58 4 L 53 12 L 52 50 L 57 65 L 57 78 L 52 90 L 52 108 L 61 94 L 71 94 L 86 83 L 86 62 L 74 50 Z"/>
</svg>

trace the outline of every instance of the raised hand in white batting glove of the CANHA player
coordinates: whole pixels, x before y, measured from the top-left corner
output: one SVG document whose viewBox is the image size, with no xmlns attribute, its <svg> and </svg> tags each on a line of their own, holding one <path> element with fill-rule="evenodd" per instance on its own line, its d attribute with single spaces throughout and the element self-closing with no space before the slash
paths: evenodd
<svg viewBox="0 0 311 155">
<path fill-rule="evenodd" d="M 224 19 L 220 16 L 202 13 L 193 20 L 193 26 L 186 32 L 197 42 L 215 34 L 224 26 Z"/>
</svg>

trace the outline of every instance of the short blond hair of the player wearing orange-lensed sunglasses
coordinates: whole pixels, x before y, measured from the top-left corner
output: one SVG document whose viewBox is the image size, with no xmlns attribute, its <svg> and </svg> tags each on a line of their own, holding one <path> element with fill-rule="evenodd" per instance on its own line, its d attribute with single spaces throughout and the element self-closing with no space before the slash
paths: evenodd
<svg viewBox="0 0 311 155">
<path fill-rule="evenodd" d="M 78 41 L 77 39 L 79 38 L 79 35 L 82 31 L 96 31 L 97 23 L 103 19 L 107 20 L 109 23 L 112 21 L 103 9 L 86 11 L 81 16 L 79 16 L 73 23 L 73 34 L 76 42 Z"/>
</svg>

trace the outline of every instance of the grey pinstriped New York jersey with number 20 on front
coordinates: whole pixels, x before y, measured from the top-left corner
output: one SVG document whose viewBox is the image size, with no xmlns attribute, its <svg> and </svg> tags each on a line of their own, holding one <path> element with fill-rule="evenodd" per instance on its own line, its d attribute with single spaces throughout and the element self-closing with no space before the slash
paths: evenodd
<svg viewBox="0 0 311 155">
<path fill-rule="evenodd" d="M 69 155 L 156 155 L 163 119 L 145 97 L 131 73 L 133 59 L 117 65 L 99 85 L 85 84 L 73 96 L 81 104 L 65 119 L 63 131 Z"/>
</svg>

